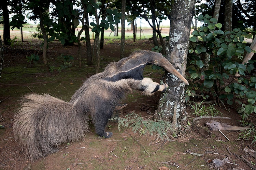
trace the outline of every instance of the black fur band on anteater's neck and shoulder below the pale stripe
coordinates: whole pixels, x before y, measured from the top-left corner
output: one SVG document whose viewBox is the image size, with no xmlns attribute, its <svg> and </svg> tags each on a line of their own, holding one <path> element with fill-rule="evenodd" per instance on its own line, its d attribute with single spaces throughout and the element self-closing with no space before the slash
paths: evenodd
<svg viewBox="0 0 256 170">
<path fill-rule="evenodd" d="M 113 77 L 108 77 L 105 80 L 113 81 L 113 82 L 121 80 L 121 79 L 127 79 L 127 78 L 133 78 L 135 80 L 142 80 L 145 65 L 141 65 L 141 66 L 131 69 L 130 71 L 127 71 L 127 72 L 117 73 Z"/>
</svg>

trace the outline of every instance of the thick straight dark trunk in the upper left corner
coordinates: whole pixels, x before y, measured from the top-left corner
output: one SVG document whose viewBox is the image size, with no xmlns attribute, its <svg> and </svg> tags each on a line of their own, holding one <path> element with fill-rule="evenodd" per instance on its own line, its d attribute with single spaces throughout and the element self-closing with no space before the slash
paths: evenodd
<svg viewBox="0 0 256 170">
<path fill-rule="evenodd" d="M 11 45 L 8 1 L 3 0 L 1 6 L 3 11 L 3 42 L 5 45 Z"/>
</svg>

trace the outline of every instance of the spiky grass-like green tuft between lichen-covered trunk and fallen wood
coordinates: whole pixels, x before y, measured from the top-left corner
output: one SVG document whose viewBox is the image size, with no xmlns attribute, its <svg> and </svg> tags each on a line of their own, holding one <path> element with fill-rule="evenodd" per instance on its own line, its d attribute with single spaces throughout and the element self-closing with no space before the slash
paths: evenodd
<svg viewBox="0 0 256 170">
<path fill-rule="evenodd" d="M 206 107 L 203 104 L 204 101 L 202 101 L 200 103 L 196 103 L 194 101 L 192 101 L 192 102 L 194 103 L 193 105 L 192 104 L 188 104 L 188 105 L 191 107 L 191 109 L 194 110 L 193 114 L 195 114 L 197 117 L 202 117 L 202 116 L 214 117 L 214 116 L 217 116 L 218 114 L 222 115 L 222 113 L 220 111 L 218 111 L 214 108 L 215 104 L 210 105 L 209 107 Z"/>
</svg>

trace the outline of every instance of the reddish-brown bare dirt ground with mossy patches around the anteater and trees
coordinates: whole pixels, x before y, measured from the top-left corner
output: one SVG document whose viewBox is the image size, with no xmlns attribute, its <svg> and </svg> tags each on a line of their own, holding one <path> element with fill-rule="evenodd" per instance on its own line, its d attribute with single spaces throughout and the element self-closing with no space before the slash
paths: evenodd
<svg viewBox="0 0 256 170">
<path fill-rule="evenodd" d="M 148 40 L 133 43 L 126 42 L 125 54 L 128 56 L 134 49 L 151 50 L 153 44 Z M 72 66 L 61 72 L 49 73 L 42 61 L 30 64 L 26 56 L 31 54 L 42 55 L 40 42 L 17 43 L 4 50 L 4 66 L 0 79 L 0 169 L 45 169 L 45 170 L 73 170 L 73 169 L 256 169 L 255 154 L 249 155 L 244 148 L 256 150 L 251 140 L 238 140 L 241 131 L 210 131 L 205 123 L 208 119 L 196 122 L 199 130 L 192 126 L 191 108 L 187 106 L 188 119 L 180 135 L 174 138 L 170 134 L 170 140 L 159 140 L 156 136 L 133 133 L 132 128 L 121 127 L 117 129 L 116 122 L 110 122 L 108 131 L 113 132 L 109 139 L 99 138 L 94 127 L 86 138 L 73 143 L 63 143 L 59 151 L 46 155 L 41 160 L 31 162 L 24 155 L 19 143 L 15 140 L 12 130 L 12 119 L 19 107 L 20 98 L 26 93 L 49 93 L 53 96 L 68 101 L 83 80 L 94 74 L 94 66 L 87 66 L 83 60 L 83 67 L 79 68 L 76 60 L 77 46 L 63 47 L 58 42 L 49 44 L 49 65 L 58 66 L 58 56 L 72 55 L 75 60 Z M 118 61 L 120 56 L 119 41 L 106 43 L 101 50 L 102 69 L 111 61 Z M 85 55 L 83 44 L 83 55 Z M 61 62 L 60 62 L 61 63 Z M 160 81 L 162 72 L 145 71 L 146 75 Z M 145 97 L 134 91 L 127 94 L 128 103 L 120 113 L 124 117 L 127 113 L 135 112 L 143 115 L 145 119 L 152 117 L 157 107 L 159 95 Z M 145 106 L 147 107 L 145 109 Z M 214 119 L 229 125 L 241 126 L 240 115 L 235 109 L 229 111 L 216 106 L 223 113 L 223 117 L 230 120 Z M 149 110 L 149 112 L 148 112 Z M 254 117 L 251 117 L 254 121 Z M 67 126 L 69 126 L 67 124 Z M 205 129 L 209 134 L 202 135 L 200 129 Z M 226 137 L 225 137 L 225 136 Z M 254 156 L 254 157 L 253 157 Z M 228 159 L 223 165 L 216 168 L 213 162 Z M 247 160 L 247 162 L 246 162 Z"/>
</svg>

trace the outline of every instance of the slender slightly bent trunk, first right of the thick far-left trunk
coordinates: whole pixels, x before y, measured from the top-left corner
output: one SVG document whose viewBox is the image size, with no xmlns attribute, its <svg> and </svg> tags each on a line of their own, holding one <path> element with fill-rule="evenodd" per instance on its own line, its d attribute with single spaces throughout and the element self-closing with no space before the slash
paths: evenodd
<svg viewBox="0 0 256 170">
<path fill-rule="evenodd" d="M 46 34 L 46 30 L 44 28 L 44 16 L 43 16 L 43 12 L 40 10 L 40 29 L 42 31 L 42 34 L 43 34 L 43 62 L 44 62 L 44 65 L 46 67 L 48 67 L 48 63 L 47 63 L 47 45 L 48 45 L 48 42 L 47 42 L 47 34 Z"/>
</svg>

